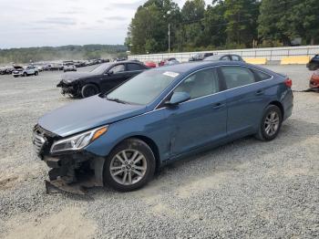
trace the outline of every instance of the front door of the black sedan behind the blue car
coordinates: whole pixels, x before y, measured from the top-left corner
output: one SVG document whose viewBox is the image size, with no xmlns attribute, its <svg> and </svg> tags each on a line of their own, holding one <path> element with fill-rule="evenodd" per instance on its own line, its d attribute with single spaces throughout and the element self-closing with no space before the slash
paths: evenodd
<svg viewBox="0 0 319 239">
<path fill-rule="evenodd" d="M 100 83 L 102 91 L 108 91 L 112 88 L 116 88 L 127 79 L 125 64 L 120 63 L 109 68 L 108 71 L 104 73 L 103 77 L 104 78 Z"/>
</svg>

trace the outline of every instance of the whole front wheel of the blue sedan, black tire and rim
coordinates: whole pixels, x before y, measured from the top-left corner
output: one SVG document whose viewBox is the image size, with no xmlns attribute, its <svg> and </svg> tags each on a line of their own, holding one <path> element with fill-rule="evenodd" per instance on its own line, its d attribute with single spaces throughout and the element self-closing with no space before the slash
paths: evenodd
<svg viewBox="0 0 319 239">
<path fill-rule="evenodd" d="M 152 179 L 155 166 L 154 154 L 147 143 L 134 138 L 124 140 L 111 151 L 105 161 L 104 184 L 119 192 L 137 190 Z"/>
</svg>

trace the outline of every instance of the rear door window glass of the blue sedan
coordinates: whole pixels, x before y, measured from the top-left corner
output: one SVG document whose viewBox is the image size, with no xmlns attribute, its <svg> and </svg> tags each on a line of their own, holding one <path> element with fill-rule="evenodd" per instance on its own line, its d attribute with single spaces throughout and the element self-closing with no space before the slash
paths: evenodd
<svg viewBox="0 0 319 239">
<path fill-rule="evenodd" d="M 221 67 L 227 88 L 239 88 L 256 82 L 250 68 L 240 66 Z"/>
</svg>

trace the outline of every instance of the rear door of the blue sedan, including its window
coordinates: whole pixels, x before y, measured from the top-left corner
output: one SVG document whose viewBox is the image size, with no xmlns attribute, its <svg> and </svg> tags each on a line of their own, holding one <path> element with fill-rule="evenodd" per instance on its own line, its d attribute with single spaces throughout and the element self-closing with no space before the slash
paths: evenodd
<svg viewBox="0 0 319 239">
<path fill-rule="evenodd" d="M 227 133 L 238 138 L 254 133 L 260 116 L 267 103 L 264 87 L 251 68 L 243 66 L 223 66 L 220 68 L 224 78 L 227 98 Z"/>
</svg>

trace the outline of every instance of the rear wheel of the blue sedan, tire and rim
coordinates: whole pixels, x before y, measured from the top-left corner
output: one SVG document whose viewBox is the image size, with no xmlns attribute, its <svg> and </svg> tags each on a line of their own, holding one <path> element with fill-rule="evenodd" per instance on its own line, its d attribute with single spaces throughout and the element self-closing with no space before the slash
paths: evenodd
<svg viewBox="0 0 319 239">
<path fill-rule="evenodd" d="M 277 106 L 269 105 L 262 116 L 258 133 L 255 137 L 258 140 L 270 141 L 277 137 L 283 123 L 282 110 Z"/>
</svg>

